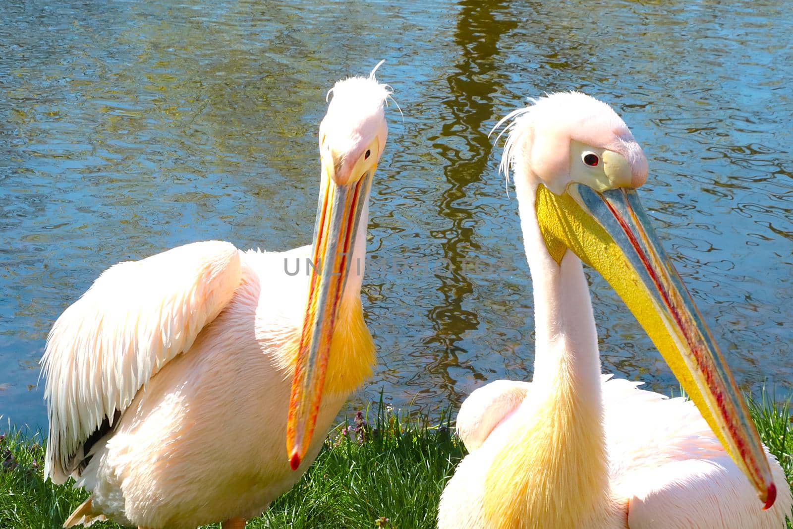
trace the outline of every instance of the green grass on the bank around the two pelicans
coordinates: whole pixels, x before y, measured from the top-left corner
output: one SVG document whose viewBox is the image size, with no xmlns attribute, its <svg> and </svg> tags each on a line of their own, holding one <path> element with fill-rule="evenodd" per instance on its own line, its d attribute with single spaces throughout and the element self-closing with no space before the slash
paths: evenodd
<svg viewBox="0 0 793 529">
<path fill-rule="evenodd" d="M 763 439 L 793 478 L 793 424 L 787 404 L 749 399 Z M 435 527 L 443 485 L 464 448 L 450 424 L 431 426 L 420 416 L 380 407 L 371 422 L 360 414 L 331 432 L 301 481 L 248 527 Z M 69 485 L 44 481 L 39 435 L 12 431 L 0 440 L 0 528 L 60 527 L 87 497 Z M 92 527 L 109 529 L 114 523 Z M 218 524 L 207 527 L 219 527 Z M 789 528 L 793 529 L 790 523 Z"/>
</svg>

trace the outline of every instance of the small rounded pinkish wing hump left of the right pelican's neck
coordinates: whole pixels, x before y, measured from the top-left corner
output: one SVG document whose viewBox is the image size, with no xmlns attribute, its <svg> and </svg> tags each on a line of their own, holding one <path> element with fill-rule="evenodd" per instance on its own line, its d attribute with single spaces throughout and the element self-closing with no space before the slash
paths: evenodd
<svg viewBox="0 0 793 529">
<path fill-rule="evenodd" d="M 457 434 L 473 452 L 485 443 L 490 432 L 507 420 L 523 402 L 531 383 L 496 380 L 475 389 L 457 414 Z"/>
</svg>

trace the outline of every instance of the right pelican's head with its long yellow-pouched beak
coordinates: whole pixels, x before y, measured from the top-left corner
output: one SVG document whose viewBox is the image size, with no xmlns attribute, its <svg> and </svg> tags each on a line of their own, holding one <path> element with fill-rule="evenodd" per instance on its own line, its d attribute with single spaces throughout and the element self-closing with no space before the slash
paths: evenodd
<svg viewBox="0 0 793 529">
<path fill-rule="evenodd" d="M 575 92 L 539 98 L 500 124 L 510 120 L 502 170 L 515 172 L 522 217 L 532 210 L 550 266 L 573 251 L 603 275 L 769 508 L 776 487 L 760 438 L 639 202 L 647 159 L 625 122 Z"/>
</svg>

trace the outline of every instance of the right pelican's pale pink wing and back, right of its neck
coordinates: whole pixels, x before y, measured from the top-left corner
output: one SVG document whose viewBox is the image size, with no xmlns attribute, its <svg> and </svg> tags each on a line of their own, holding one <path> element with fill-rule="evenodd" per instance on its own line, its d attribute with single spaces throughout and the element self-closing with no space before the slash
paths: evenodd
<svg viewBox="0 0 793 529">
<path fill-rule="evenodd" d="M 694 403 L 638 389 L 641 384 L 603 383 L 611 486 L 627 501 L 630 529 L 785 527 L 791 493 L 773 456 L 778 496 L 762 511 L 752 484 Z"/>
</svg>

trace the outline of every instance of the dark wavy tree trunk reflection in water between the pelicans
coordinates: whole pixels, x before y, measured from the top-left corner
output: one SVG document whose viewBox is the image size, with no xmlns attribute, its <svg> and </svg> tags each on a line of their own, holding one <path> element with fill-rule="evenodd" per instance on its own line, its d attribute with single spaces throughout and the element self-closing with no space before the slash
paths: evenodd
<svg viewBox="0 0 793 529">
<path fill-rule="evenodd" d="M 441 241 L 442 256 L 449 266 L 448 275 L 438 276 L 440 303 L 427 312 L 435 334 L 423 343 L 435 351 L 428 370 L 433 378 L 439 379 L 444 397 L 452 401 L 458 401 L 461 395 L 455 391 L 456 380 L 450 374 L 450 366 L 465 366 L 478 380 L 486 380 L 476 366 L 461 363 L 459 358 L 459 353 L 465 352 L 459 346 L 462 335 L 480 324 L 477 312 L 465 308 L 473 285 L 464 270 L 464 260 L 482 251 L 476 237 L 481 222 L 471 221 L 479 212 L 471 207 L 466 188 L 473 182 L 481 182 L 492 149 L 486 123 L 493 116 L 491 96 L 496 85 L 492 73 L 499 64 L 494 57 L 498 54 L 500 36 L 517 26 L 516 21 L 504 17 L 508 3 L 460 2 L 454 43 L 461 48 L 462 57 L 447 78 L 441 133 L 427 138 L 446 160 L 443 173 L 447 185 L 437 207 L 440 216 L 448 219 L 445 223 L 448 227 L 434 230 L 430 236 Z"/>
</svg>

